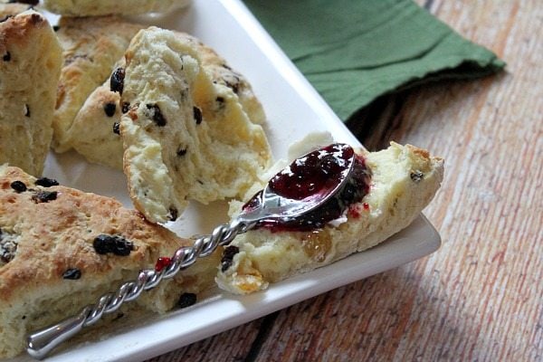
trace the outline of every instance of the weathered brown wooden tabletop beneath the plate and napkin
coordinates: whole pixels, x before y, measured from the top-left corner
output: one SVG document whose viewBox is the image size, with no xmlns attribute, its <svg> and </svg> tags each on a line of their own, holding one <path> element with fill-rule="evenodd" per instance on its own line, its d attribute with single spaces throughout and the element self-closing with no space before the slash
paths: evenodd
<svg viewBox="0 0 543 362">
<path fill-rule="evenodd" d="M 543 360 L 543 2 L 418 3 L 508 62 L 362 117 L 368 148 L 394 139 L 445 158 L 424 210 L 442 248 L 151 361 Z"/>
</svg>

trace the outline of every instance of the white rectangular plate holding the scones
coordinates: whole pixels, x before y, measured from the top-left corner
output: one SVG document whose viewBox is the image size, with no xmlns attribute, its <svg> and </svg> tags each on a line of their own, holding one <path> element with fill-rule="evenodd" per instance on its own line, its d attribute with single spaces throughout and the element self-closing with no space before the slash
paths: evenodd
<svg viewBox="0 0 543 362">
<path fill-rule="evenodd" d="M 286 157 L 289 145 L 311 131 L 329 131 L 338 141 L 360 145 L 240 1 L 194 1 L 182 12 L 138 20 L 194 34 L 245 75 L 266 110 L 269 119 L 266 131 L 276 158 Z M 120 172 L 90 165 L 74 153 L 50 155 L 44 175 L 58 179 L 62 185 L 111 195 L 131 205 Z M 182 236 L 208 233 L 227 220 L 226 210 L 224 204 L 193 205 L 173 229 Z M 386 243 L 271 285 L 267 291 L 244 297 L 211 291 L 205 300 L 189 309 L 151 316 L 116 329 L 107 339 L 71 346 L 47 360 L 137 361 L 154 357 L 319 293 L 412 262 L 435 251 L 440 243 L 439 234 L 421 215 Z M 31 358 L 14 358 L 14 361 L 24 360 Z"/>
</svg>

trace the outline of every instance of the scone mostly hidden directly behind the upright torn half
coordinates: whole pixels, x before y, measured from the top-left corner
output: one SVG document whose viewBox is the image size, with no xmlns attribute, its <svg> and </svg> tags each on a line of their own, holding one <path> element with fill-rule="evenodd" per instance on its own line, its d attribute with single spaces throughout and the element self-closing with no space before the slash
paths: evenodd
<svg viewBox="0 0 543 362">
<path fill-rule="evenodd" d="M 262 104 L 256 98 L 251 84 L 242 74 L 234 71 L 213 49 L 187 33 L 174 32 L 182 41 L 195 46 L 204 71 L 214 87 L 230 88 L 240 102 L 247 117 L 256 124 L 265 122 Z M 124 67 L 124 58 L 115 69 Z M 119 92 L 110 90 L 110 80 L 94 90 L 77 113 L 67 131 L 68 147 L 75 149 L 93 163 L 122 169 L 122 140 L 119 137 L 121 106 Z M 196 104 L 203 109 L 204 105 Z"/>
</svg>

